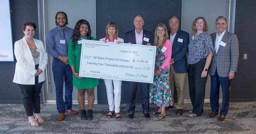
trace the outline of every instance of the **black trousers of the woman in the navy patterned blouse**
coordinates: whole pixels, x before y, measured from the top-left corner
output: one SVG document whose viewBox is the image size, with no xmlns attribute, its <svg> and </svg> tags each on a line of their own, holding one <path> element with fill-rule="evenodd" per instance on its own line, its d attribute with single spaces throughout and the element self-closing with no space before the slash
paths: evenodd
<svg viewBox="0 0 256 134">
<path fill-rule="evenodd" d="M 200 116 L 204 108 L 204 95 L 207 77 L 201 78 L 206 58 L 188 66 L 189 96 L 193 105 L 192 113 Z M 208 74 L 208 73 L 207 73 Z"/>
</svg>

